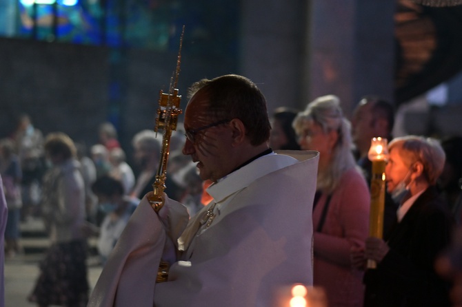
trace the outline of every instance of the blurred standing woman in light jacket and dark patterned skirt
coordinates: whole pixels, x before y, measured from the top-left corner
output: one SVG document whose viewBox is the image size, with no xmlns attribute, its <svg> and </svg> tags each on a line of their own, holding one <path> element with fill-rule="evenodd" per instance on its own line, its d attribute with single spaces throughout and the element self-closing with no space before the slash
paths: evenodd
<svg viewBox="0 0 462 307">
<path fill-rule="evenodd" d="M 61 132 L 49 134 L 44 147 L 52 168 L 43 178 L 42 216 L 52 244 L 29 300 L 39 306 L 86 306 L 85 187 L 77 149 Z"/>
</svg>

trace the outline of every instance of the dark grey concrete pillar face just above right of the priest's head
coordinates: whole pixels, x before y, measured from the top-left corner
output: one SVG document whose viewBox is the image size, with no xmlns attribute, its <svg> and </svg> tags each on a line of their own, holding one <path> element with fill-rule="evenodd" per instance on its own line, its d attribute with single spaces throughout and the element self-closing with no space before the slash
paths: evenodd
<svg viewBox="0 0 462 307">
<path fill-rule="evenodd" d="M 276 107 L 304 107 L 304 42 L 308 2 L 242 1 L 241 71 Z"/>
</svg>

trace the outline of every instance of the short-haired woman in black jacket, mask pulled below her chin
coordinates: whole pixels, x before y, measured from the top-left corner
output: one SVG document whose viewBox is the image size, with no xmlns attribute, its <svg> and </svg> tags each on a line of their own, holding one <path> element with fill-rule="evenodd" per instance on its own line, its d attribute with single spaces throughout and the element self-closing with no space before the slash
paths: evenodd
<svg viewBox="0 0 462 307">
<path fill-rule="evenodd" d="M 387 189 L 399 202 L 388 241 L 368 237 L 354 264 L 374 260 L 365 272 L 365 307 L 450 306 L 450 285 L 434 270 L 436 257 L 448 246 L 452 218 L 435 184 L 445 154 L 431 138 L 405 136 L 388 146 Z"/>
</svg>

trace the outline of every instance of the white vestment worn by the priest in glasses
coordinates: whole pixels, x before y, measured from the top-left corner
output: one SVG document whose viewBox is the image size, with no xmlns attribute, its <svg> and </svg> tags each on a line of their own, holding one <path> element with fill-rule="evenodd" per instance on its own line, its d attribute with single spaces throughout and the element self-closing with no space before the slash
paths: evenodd
<svg viewBox="0 0 462 307">
<path fill-rule="evenodd" d="M 214 201 L 185 231 L 179 203 L 165 201 L 168 221 L 162 223 L 143 198 L 88 306 L 267 307 L 285 286 L 312 285 L 318 160 L 314 151 L 281 151 L 252 161 L 208 189 Z M 212 207 L 212 221 L 201 226 Z M 168 282 L 156 284 L 165 246 L 177 238 L 181 261 L 172 264 Z"/>
</svg>

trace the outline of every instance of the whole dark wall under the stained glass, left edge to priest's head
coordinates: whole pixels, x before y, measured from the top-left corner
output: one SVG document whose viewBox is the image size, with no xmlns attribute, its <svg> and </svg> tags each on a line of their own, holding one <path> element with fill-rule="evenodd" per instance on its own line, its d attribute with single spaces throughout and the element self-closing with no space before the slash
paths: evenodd
<svg viewBox="0 0 462 307">
<path fill-rule="evenodd" d="M 183 107 L 194 81 L 237 73 L 232 61 L 191 56 L 184 48 Z M 0 39 L 0 138 L 26 113 L 43 134 L 63 131 L 90 146 L 110 119 L 130 154 L 134 134 L 154 127 L 159 90 L 168 92 L 176 65 L 176 53 Z"/>
</svg>

